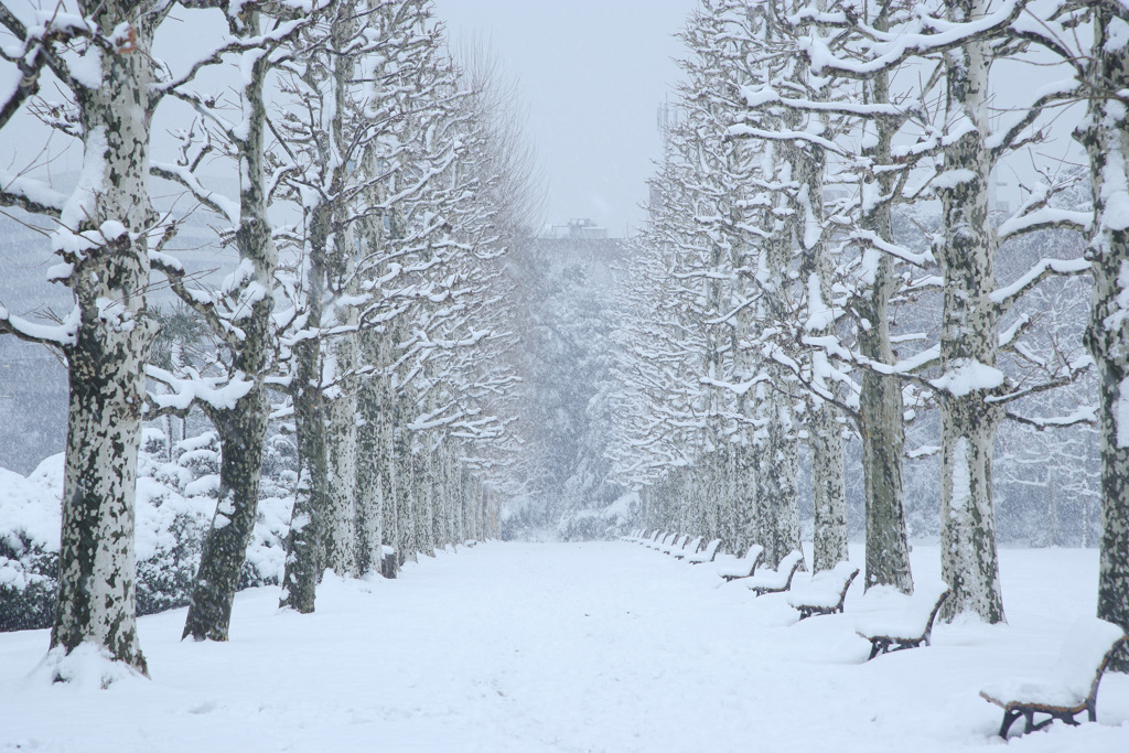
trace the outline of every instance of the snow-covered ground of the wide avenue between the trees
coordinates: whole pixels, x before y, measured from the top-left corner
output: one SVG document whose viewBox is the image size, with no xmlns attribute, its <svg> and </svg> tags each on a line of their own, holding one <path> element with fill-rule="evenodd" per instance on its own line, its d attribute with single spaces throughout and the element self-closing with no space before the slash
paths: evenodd
<svg viewBox="0 0 1129 753">
<path fill-rule="evenodd" d="M 916 577 L 937 560 L 917 546 Z M 36 672 L 45 631 L 0 634 L 0 748 L 1004 750 L 979 690 L 1053 663 L 1094 612 L 1097 554 L 1004 550 L 1001 567 L 1008 625 L 939 625 L 931 648 L 865 663 L 861 577 L 846 614 L 797 624 L 785 595 L 634 544 L 481 544 L 397 580 L 329 576 L 308 616 L 244 592 L 228 643 L 181 642 L 184 610 L 143 618 L 152 680 L 106 691 Z M 1105 675 L 1097 721 L 1007 745 L 1129 751 L 1129 676 Z"/>
</svg>

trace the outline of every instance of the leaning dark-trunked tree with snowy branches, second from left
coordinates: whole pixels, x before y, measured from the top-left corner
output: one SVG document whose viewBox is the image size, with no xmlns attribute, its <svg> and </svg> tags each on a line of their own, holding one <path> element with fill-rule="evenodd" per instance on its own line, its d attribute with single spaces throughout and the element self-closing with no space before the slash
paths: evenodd
<svg viewBox="0 0 1129 753">
<path fill-rule="evenodd" d="M 193 5 L 224 10 L 229 41 L 202 56 L 184 76 L 165 82 L 168 94 L 198 113 L 207 138 L 200 143 L 195 130 L 186 130 L 182 135 L 182 159 L 154 165 L 152 172 L 183 185 L 229 225 L 224 238 L 235 247 L 239 260 L 236 270 L 215 291 L 192 284 L 174 259 L 161 257 L 155 263 L 173 291 L 209 324 L 224 351 L 215 364 L 218 378 L 202 378 L 199 374 L 178 378 L 155 368 L 148 371 L 174 391 L 159 403 L 184 408 L 194 402 L 220 439 L 219 502 L 204 539 L 184 625 L 184 637 L 195 640 L 228 638 L 231 605 L 259 507 L 270 414 L 268 378 L 277 356 L 272 315 L 278 248 L 268 209 L 279 175 L 270 169 L 268 157 L 268 79 L 292 54 L 289 43 L 316 23 L 329 2 L 324 0 L 314 8 L 300 2 L 271 3 L 269 9 L 275 15 L 269 16 L 259 5 L 200 0 Z M 231 103 L 236 117 L 228 115 L 227 103 L 191 87 L 201 68 L 225 59 L 235 59 L 242 69 L 234 88 L 237 100 Z M 207 190 L 195 174 L 213 149 L 221 150 L 237 166 L 239 190 L 235 200 Z"/>
</svg>

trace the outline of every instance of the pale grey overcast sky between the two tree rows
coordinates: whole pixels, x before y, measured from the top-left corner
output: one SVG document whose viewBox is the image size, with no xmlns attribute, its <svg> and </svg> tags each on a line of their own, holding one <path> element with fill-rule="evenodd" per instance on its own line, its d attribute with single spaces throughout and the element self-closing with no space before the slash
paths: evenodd
<svg viewBox="0 0 1129 753">
<path fill-rule="evenodd" d="M 453 43 L 489 42 L 518 79 L 548 182 L 544 220 L 642 220 L 662 152 L 656 114 L 679 78 L 674 34 L 697 0 L 435 0 Z"/>
</svg>

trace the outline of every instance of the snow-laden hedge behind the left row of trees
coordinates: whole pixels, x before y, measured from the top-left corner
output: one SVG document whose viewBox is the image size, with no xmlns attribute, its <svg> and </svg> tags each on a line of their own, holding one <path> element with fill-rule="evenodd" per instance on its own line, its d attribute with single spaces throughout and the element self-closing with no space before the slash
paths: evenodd
<svg viewBox="0 0 1129 753">
<path fill-rule="evenodd" d="M 147 428 L 138 456 L 137 599 L 140 614 L 184 606 L 216 513 L 219 443 L 204 432 L 174 444 Z M 278 584 L 290 522 L 294 445 L 268 445 L 259 518 L 239 587 Z M 173 456 L 176 459 L 169 462 Z M 51 625 L 59 559 L 63 456 L 49 457 L 26 479 L 0 469 L 0 631 Z"/>
</svg>

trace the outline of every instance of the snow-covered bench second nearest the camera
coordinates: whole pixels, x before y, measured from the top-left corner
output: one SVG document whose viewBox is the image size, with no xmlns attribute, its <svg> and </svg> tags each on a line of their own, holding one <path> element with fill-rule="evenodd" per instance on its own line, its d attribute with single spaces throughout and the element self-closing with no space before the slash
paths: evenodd
<svg viewBox="0 0 1129 753">
<path fill-rule="evenodd" d="M 933 622 L 940 605 L 948 598 L 943 583 L 914 586 L 913 595 L 900 594 L 890 587 L 872 588 L 865 598 L 884 602 L 882 610 L 860 618 L 856 632 L 870 641 L 869 662 L 878 654 L 917 648 L 933 643 Z"/>
</svg>

